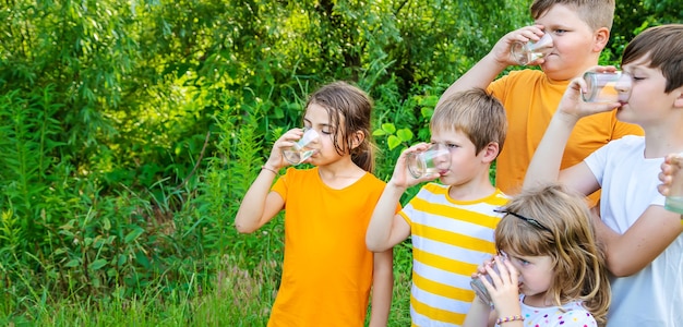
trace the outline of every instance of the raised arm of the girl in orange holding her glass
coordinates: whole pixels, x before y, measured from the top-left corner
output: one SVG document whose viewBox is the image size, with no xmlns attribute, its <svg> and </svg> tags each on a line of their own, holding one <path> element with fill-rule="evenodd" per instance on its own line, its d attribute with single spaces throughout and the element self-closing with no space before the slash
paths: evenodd
<svg viewBox="0 0 683 327">
<path fill-rule="evenodd" d="M 283 209 L 285 201 L 276 192 L 271 192 L 277 171 L 286 166 L 281 148 L 290 147 L 301 138 L 303 132 L 293 129 L 285 133 L 273 145 L 273 150 L 261 172 L 249 186 L 240 208 L 235 216 L 235 227 L 241 233 L 251 233 L 271 221 Z"/>
</svg>

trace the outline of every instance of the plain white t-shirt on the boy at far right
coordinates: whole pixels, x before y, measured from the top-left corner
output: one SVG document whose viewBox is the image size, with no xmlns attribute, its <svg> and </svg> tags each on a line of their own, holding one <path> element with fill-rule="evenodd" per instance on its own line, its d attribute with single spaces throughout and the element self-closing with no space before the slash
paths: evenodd
<svg viewBox="0 0 683 327">
<path fill-rule="evenodd" d="M 602 186 L 602 221 L 624 233 L 651 205 L 663 206 L 657 191 L 663 158 L 645 158 L 645 137 L 624 136 L 585 159 Z M 628 277 L 611 278 L 608 326 L 683 326 L 683 234 L 655 261 Z"/>
</svg>

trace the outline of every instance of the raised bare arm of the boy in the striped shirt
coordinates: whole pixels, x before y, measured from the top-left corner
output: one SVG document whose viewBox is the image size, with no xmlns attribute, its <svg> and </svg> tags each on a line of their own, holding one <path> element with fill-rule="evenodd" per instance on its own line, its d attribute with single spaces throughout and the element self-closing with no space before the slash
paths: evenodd
<svg viewBox="0 0 683 327">
<path fill-rule="evenodd" d="M 424 150 L 429 144 L 421 143 L 405 150 L 398 157 L 394 174 L 386 183 L 378 204 L 372 213 L 370 225 L 366 233 L 366 245 L 372 252 L 383 252 L 404 241 L 410 235 L 410 226 L 400 215 L 396 214 L 400 196 L 406 190 L 420 182 L 433 180 L 438 175 L 428 175 L 414 179 L 406 168 L 406 156 L 409 153 Z"/>
</svg>

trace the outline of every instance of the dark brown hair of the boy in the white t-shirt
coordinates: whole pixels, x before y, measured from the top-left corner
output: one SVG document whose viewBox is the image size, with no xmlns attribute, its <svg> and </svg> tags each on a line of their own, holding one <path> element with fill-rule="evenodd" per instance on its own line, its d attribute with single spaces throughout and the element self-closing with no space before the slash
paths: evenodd
<svg viewBox="0 0 683 327">
<path fill-rule="evenodd" d="M 664 93 L 683 85 L 683 24 L 650 27 L 628 43 L 622 66 L 649 56 L 649 66 L 661 70 L 667 78 Z"/>
</svg>

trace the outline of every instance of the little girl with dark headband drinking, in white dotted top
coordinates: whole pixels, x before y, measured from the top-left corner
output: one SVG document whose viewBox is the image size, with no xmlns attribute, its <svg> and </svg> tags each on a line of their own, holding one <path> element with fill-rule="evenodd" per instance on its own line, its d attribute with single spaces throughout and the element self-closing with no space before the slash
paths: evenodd
<svg viewBox="0 0 683 327">
<path fill-rule="evenodd" d="M 500 255 L 475 275 L 493 308 L 477 298 L 465 326 L 603 326 L 611 291 L 585 197 L 548 184 L 524 190 L 500 211 Z"/>
</svg>

